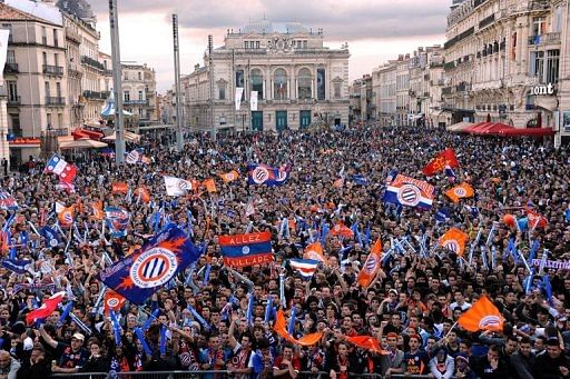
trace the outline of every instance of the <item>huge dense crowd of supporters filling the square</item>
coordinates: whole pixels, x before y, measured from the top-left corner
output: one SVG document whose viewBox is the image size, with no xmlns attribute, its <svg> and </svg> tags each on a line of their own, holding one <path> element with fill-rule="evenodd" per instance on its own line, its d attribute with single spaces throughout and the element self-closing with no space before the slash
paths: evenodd
<svg viewBox="0 0 570 379">
<path fill-rule="evenodd" d="M 41 164 L 2 178 L 1 188 L 18 209 L 0 210 L 0 225 L 10 232 L 17 258 L 32 263 L 24 273 L 0 268 L 0 378 L 171 370 L 242 379 L 569 377 L 570 271 L 542 265 L 542 272 L 531 276 L 519 259 L 530 258 L 535 241 L 537 260 L 569 259 L 568 146 L 556 150 L 542 140 L 373 123 L 343 131 L 220 136 L 215 142 L 190 136 L 181 153 L 164 143 L 168 138 L 142 138 L 136 148 L 149 158 L 145 163 L 118 167 L 108 156 L 76 162 L 73 192 L 58 187 L 58 178 Z M 452 182 L 443 171 L 426 178 L 422 168 L 445 148 L 453 148 L 460 162 L 456 178 Z M 250 162 L 287 164 L 291 171 L 283 186 L 248 184 Z M 237 180 L 219 179 L 232 170 L 239 173 Z M 382 200 L 394 170 L 435 187 L 431 209 Z M 164 176 L 194 183 L 214 178 L 216 191 L 195 186 L 185 196 L 167 197 Z M 355 177 L 365 181 L 355 182 Z M 147 188 L 150 201 L 112 193 L 116 182 Z M 470 183 L 474 196 L 452 202 L 444 192 L 458 182 Z M 112 237 L 108 229 L 101 233 L 101 221 L 89 207 L 97 201 L 130 213 L 125 237 Z M 36 231 L 56 222 L 56 202 L 76 206 L 77 230 L 53 246 Z M 98 273 L 157 232 L 154 215 L 159 209 L 161 223 L 167 219 L 185 230 L 191 223 L 191 240 L 203 247 L 203 256 L 146 303 L 121 307 L 117 343 L 111 319 L 98 302 L 105 290 Z M 528 209 L 548 225 L 521 230 L 503 222 L 505 213 L 521 219 Z M 291 225 L 286 233 L 284 218 Z M 338 221 L 363 235 L 368 228 L 370 236 L 323 236 L 325 226 Z M 470 259 L 439 246 L 451 227 L 469 235 Z M 230 269 L 218 236 L 246 231 L 272 233 L 274 260 Z M 287 261 L 303 257 L 315 238 L 323 242 L 326 265 L 305 280 Z M 407 242 L 395 249 L 404 238 Z M 362 288 L 357 275 L 379 239 L 382 269 Z M 2 247 L 4 259 L 13 247 Z M 28 325 L 26 315 L 57 291 L 66 292 L 62 306 L 73 302 L 72 317 L 61 317 L 58 309 Z M 502 330 L 469 332 L 456 323 L 482 296 L 504 317 Z M 276 335 L 276 313 L 266 311 L 269 298 L 287 318 L 295 309 L 294 338 L 322 332 L 322 339 L 299 346 Z M 141 336 L 137 328 L 146 322 Z M 371 336 L 384 351 L 355 347 L 347 336 Z"/>
</svg>

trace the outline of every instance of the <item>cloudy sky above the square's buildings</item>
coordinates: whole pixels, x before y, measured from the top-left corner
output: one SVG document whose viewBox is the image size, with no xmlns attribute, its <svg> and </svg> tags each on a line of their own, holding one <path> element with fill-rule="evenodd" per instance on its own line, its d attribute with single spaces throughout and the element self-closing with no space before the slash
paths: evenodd
<svg viewBox="0 0 570 379">
<path fill-rule="evenodd" d="M 90 0 L 101 32 L 100 49 L 110 53 L 108 1 Z M 399 53 L 443 43 L 451 0 L 119 0 L 122 61 L 147 63 L 157 71 L 158 91 L 174 83 L 171 14 L 180 27 L 180 71 L 203 63 L 208 34 L 224 43 L 227 29 L 264 17 L 324 29 L 325 44 L 348 42 L 351 80 L 370 73 Z M 420 6 L 421 4 L 421 6 Z"/>
</svg>

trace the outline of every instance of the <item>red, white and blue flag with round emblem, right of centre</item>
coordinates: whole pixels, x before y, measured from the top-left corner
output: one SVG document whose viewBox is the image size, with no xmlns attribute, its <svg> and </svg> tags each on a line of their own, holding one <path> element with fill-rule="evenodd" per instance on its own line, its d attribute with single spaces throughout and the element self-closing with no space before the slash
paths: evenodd
<svg viewBox="0 0 570 379">
<path fill-rule="evenodd" d="M 433 202 L 433 191 L 434 188 L 429 182 L 399 173 L 386 186 L 383 200 L 399 206 L 430 209 Z"/>
</svg>

